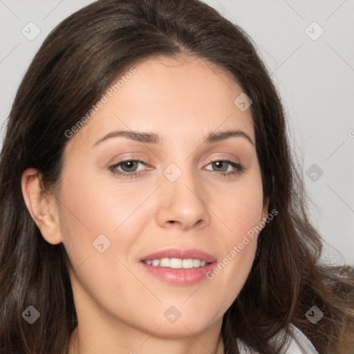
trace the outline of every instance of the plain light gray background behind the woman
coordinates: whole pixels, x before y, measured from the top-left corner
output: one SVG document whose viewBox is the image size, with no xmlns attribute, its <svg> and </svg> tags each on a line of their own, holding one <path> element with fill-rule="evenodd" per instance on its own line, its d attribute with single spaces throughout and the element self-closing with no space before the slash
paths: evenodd
<svg viewBox="0 0 354 354">
<path fill-rule="evenodd" d="M 91 2 L 0 0 L 0 124 L 46 35 Z M 313 202 L 310 218 L 328 243 L 324 258 L 354 265 L 353 0 L 205 2 L 257 44 L 286 106 L 292 147 Z M 35 35 L 29 22 L 40 30 L 32 40 L 21 32 Z"/>
</svg>

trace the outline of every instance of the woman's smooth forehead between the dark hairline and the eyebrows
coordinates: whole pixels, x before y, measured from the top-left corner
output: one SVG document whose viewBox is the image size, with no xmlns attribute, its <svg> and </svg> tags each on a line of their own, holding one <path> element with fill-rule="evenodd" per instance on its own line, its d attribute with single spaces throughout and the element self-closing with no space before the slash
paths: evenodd
<svg viewBox="0 0 354 354">
<path fill-rule="evenodd" d="M 254 140 L 250 109 L 241 111 L 234 103 L 243 90 L 218 66 L 197 57 L 156 57 L 133 68 L 133 75 L 120 74 L 104 92 L 104 104 L 68 145 L 80 142 L 88 149 L 115 129 L 194 138 L 218 127 L 236 128 Z"/>
</svg>

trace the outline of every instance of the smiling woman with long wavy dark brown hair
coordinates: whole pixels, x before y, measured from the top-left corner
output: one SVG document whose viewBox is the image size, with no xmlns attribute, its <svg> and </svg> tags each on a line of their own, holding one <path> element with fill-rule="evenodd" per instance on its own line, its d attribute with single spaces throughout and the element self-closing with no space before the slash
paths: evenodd
<svg viewBox="0 0 354 354">
<path fill-rule="evenodd" d="M 0 353 L 352 353 L 281 100 L 199 1 L 105 0 L 47 37 L 1 151 Z"/>
</svg>

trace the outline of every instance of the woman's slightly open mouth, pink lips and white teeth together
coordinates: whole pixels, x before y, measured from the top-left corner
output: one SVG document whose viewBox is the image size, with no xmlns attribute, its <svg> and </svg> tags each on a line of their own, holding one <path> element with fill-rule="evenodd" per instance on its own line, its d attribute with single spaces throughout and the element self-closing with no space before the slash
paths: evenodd
<svg viewBox="0 0 354 354">
<path fill-rule="evenodd" d="M 171 248 L 139 260 L 149 275 L 176 286 L 189 286 L 206 279 L 217 260 L 201 250 Z"/>
</svg>

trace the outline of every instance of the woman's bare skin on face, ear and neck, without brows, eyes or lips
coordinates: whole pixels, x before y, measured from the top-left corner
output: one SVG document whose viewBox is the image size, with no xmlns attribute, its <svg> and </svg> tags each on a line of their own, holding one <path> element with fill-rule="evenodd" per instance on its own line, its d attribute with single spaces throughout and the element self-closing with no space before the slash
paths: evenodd
<svg viewBox="0 0 354 354">
<path fill-rule="evenodd" d="M 196 57 L 154 58 L 93 115 L 64 151 L 62 183 L 43 194 L 35 169 L 22 176 L 26 205 L 48 243 L 64 243 L 70 259 L 78 326 L 69 353 L 223 353 L 223 315 L 248 277 L 257 236 L 214 277 L 175 286 L 138 262 L 166 248 L 198 248 L 218 261 L 264 220 L 261 172 L 255 146 L 241 136 L 206 144 L 209 133 L 241 130 L 254 143 L 250 109 L 234 100 L 243 91 L 220 68 Z M 163 144 L 125 137 L 93 145 L 117 129 L 158 133 Z M 113 174 L 122 158 L 136 178 Z M 244 167 L 215 166 L 212 159 Z M 171 182 L 171 163 L 182 172 Z M 129 171 L 120 165 L 116 170 Z M 93 247 L 98 235 L 111 242 Z M 181 317 L 171 324 L 170 307 Z"/>
</svg>

